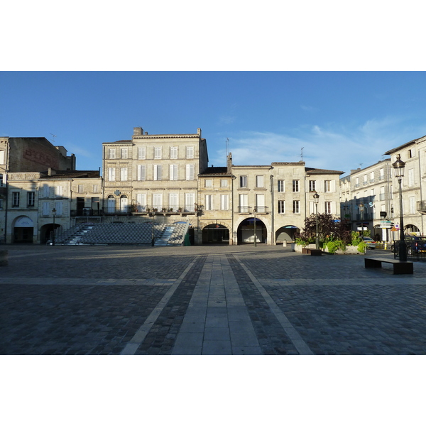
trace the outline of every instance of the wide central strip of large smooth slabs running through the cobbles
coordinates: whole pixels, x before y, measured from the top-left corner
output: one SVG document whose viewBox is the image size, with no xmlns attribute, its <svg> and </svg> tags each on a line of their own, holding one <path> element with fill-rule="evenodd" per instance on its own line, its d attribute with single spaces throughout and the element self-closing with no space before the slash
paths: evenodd
<svg viewBox="0 0 426 426">
<path fill-rule="evenodd" d="M 172 354 L 262 354 L 226 256 L 209 255 L 204 263 Z"/>
</svg>

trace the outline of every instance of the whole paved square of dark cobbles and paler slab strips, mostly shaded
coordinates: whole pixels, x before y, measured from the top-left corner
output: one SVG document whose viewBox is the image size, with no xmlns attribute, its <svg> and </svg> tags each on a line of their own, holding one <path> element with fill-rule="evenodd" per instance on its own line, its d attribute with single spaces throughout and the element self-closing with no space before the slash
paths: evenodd
<svg viewBox="0 0 426 426">
<path fill-rule="evenodd" d="M 2 249 L 0 354 L 426 353 L 426 263 L 393 275 L 261 244 Z"/>
</svg>

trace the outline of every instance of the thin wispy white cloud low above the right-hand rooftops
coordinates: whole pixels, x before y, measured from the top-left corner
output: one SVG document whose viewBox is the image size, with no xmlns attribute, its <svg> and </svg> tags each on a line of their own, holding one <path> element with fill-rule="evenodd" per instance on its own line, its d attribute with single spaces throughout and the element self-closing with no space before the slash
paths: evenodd
<svg viewBox="0 0 426 426">
<path fill-rule="evenodd" d="M 305 129 L 293 129 L 290 133 L 239 132 L 229 134 L 228 151 L 235 165 L 268 165 L 275 161 L 300 161 L 301 148 L 307 167 L 341 170 L 373 165 L 384 153 L 413 138 L 426 134 L 425 126 L 404 126 L 405 119 L 384 117 L 370 119 L 358 127 L 319 125 Z M 212 149 L 213 148 L 213 149 Z M 210 163 L 225 164 L 225 149 L 210 151 Z"/>
</svg>

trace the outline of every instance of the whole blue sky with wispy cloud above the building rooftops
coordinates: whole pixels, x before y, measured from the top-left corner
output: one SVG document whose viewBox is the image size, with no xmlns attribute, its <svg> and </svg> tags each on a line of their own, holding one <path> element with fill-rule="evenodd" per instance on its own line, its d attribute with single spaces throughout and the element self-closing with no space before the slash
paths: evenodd
<svg viewBox="0 0 426 426">
<path fill-rule="evenodd" d="M 209 165 L 225 164 L 228 138 L 236 165 L 302 154 L 345 173 L 426 134 L 425 72 L 1 72 L 0 99 L 1 136 L 44 136 L 80 170 L 136 126 L 200 127 Z"/>
</svg>

